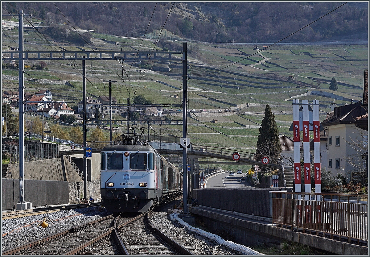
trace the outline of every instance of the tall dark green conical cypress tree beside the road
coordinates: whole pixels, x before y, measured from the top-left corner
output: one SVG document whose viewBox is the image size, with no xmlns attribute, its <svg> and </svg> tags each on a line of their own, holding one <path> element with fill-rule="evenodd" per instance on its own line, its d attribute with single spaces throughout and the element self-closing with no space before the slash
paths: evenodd
<svg viewBox="0 0 370 257">
<path fill-rule="evenodd" d="M 281 154 L 279 141 L 279 130 L 277 129 L 275 116 L 271 108 L 266 104 L 265 117 L 263 117 L 257 140 L 256 158 L 260 160 L 263 156 L 273 157 L 270 163 L 278 164 Z"/>
</svg>

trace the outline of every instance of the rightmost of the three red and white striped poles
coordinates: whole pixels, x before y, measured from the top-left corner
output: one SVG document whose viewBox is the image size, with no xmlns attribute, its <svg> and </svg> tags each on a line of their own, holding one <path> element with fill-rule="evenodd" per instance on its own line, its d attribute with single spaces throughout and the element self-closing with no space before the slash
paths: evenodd
<svg viewBox="0 0 370 257">
<path fill-rule="evenodd" d="M 314 177 L 315 177 L 315 193 L 321 193 L 321 159 L 320 159 L 320 117 L 319 117 L 319 100 L 312 101 L 313 110 L 313 158 L 314 158 Z M 317 218 L 321 222 L 321 208 L 319 201 L 320 195 L 316 195 L 317 203 Z"/>
</svg>

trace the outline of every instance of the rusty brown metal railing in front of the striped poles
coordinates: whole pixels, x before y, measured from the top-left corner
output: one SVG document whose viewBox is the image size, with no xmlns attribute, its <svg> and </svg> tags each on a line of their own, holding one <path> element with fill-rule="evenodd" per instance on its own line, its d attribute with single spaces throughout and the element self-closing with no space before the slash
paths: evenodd
<svg viewBox="0 0 370 257">
<path fill-rule="evenodd" d="M 272 195 L 273 224 L 367 245 L 367 195 L 276 191 Z"/>
</svg>

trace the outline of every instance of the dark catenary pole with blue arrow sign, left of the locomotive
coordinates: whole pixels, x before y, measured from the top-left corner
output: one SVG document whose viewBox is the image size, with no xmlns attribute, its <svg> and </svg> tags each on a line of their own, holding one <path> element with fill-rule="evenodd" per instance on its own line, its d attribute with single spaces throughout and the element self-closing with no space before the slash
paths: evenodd
<svg viewBox="0 0 370 257">
<path fill-rule="evenodd" d="M 84 57 L 85 58 L 85 57 Z M 86 148 L 87 148 L 87 142 L 86 142 L 86 65 L 85 60 L 82 60 L 82 109 L 84 114 L 84 125 L 83 125 L 83 133 L 84 133 L 84 199 L 87 199 L 87 160 L 86 160 Z M 78 196 L 80 198 L 80 196 Z"/>
</svg>

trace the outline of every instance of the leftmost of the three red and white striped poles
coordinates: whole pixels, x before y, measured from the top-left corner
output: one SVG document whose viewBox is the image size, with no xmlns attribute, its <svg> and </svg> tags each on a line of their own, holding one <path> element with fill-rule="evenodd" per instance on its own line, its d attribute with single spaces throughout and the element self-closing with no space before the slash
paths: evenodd
<svg viewBox="0 0 370 257">
<path fill-rule="evenodd" d="M 302 192 L 300 179 L 300 128 L 299 128 L 299 100 L 293 99 L 293 146 L 294 146 L 294 191 Z M 302 224 L 302 195 L 297 194 L 297 221 Z"/>
</svg>

